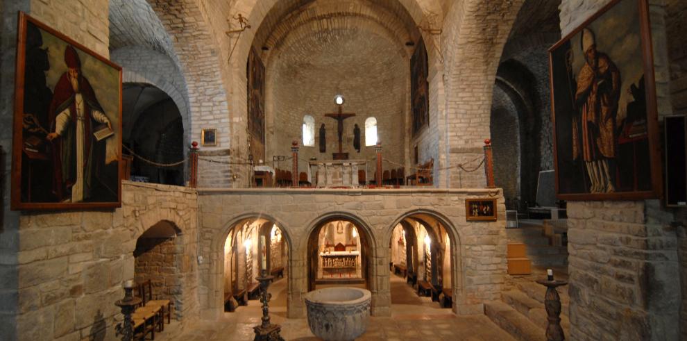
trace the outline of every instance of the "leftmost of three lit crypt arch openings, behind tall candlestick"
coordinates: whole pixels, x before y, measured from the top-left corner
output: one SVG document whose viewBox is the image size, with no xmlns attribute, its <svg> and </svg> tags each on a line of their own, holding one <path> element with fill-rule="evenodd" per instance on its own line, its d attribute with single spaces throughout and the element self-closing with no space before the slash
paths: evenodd
<svg viewBox="0 0 687 341">
<path fill-rule="evenodd" d="M 270 308 L 286 310 L 288 259 L 284 231 L 274 222 L 250 218 L 232 226 L 224 244 L 224 311 L 259 299 L 255 278 L 263 271 L 275 277 L 268 289 L 273 295 Z"/>
</svg>

